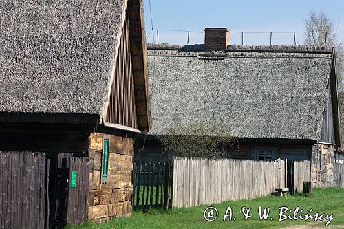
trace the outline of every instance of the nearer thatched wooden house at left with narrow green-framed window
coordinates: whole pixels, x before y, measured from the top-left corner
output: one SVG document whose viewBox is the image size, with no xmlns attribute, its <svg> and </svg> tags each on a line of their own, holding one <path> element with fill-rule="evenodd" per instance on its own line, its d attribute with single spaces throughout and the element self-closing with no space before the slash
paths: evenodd
<svg viewBox="0 0 344 229">
<path fill-rule="evenodd" d="M 36 203 L 16 199 L 14 182 L 18 170 L 31 187 L 25 171 L 42 164 L 46 174 L 32 174 L 49 177 L 36 199 L 45 225 L 130 215 L 133 137 L 151 125 L 142 0 L 3 1 L 0 9 L 0 164 L 8 169 L 0 186 L 12 187 L 0 188 L 0 227 L 41 228 L 30 224 L 36 213 L 17 220 L 15 206 L 29 212 Z M 45 160 L 29 164 L 21 152 Z"/>
</svg>

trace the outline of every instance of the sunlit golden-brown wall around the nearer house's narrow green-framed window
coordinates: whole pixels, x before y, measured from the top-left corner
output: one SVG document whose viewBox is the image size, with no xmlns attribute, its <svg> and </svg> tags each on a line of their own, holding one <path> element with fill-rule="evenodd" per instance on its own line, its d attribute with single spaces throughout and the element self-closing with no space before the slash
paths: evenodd
<svg viewBox="0 0 344 229">
<path fill-rule="evenodd" d="M 133 139 L 110 135 L 109 177 L 105 184 L 100 184 L 103 134 L 92 133 L 89 141 L 91 171 L 88 219 L 104 222 L 112 217 L 131 215 Z"/>
</svg>

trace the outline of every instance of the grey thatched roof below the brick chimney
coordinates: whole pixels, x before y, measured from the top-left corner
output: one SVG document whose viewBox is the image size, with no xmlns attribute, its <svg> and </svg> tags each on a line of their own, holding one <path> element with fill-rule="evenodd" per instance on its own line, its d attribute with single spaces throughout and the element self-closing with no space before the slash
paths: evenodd
<svg viewBox="0 0 344 229">
<path fill-rule="evenodd" d="M 153 135 L 219 122 L 239 138 L 319 140 L 332 49 L 149 45 Z"/>
</svg>

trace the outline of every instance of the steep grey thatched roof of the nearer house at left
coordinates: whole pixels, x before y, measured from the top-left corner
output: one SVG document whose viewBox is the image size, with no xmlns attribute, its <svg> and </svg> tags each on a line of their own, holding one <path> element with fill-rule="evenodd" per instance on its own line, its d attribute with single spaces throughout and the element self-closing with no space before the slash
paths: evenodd
<svg viewBox="0 0 344 229">
<path fill-rule="evenodd" d="M 101 116 L 126 5 L 3 1 L 0 112 Z"/>
</svg>

